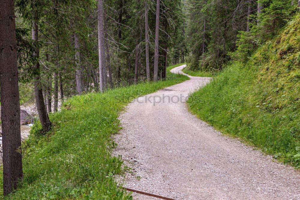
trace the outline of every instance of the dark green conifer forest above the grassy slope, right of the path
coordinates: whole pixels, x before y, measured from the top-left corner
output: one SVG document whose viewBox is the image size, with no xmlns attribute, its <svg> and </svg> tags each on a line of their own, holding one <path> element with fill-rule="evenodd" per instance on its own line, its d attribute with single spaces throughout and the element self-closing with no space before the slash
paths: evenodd
<svg viewBox="0 0 300 200">
<path fill-rule="evenodd" d="M 298 6 L 293 0 L 188 1 L 189 67 L 214 71 L 230 60 L 246 61 L 277 35 Z"/>
</svg>

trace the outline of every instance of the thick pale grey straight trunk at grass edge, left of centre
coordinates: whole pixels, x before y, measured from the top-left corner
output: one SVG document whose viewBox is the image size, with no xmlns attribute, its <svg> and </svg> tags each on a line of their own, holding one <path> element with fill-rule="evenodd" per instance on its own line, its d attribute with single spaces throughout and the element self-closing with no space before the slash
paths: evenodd
<svg viewBox="0 0 300 200">
<path fill-rule="evenodd" d="M 103 0 L 98 0 L 98 50 L 99 50 L 99 84 L 100 91 L 104 92 L 104 69 L 105 69 L 105 44 L 104 44 L 104 18 Z"/>
</svg>

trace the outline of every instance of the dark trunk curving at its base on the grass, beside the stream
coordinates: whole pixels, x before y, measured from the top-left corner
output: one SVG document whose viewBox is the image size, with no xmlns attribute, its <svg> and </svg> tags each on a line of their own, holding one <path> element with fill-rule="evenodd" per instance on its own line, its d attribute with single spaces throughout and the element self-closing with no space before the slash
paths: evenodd
<svg viewBox="0 0 300 200">
<path fill-rule="evenodd" d="M 32 39 L 38 41 L 38 24 L 34 21 L 32 23 Z M 39 56 L 39 49 L 37 48 L 35 56 Z M 48 132 L 51 129 L 51 122 L 49 120 L 49 116 L 46 110 L 46 106 L 43 98 L 43 90 L 41 86 L 41 77 L 40 77 L 40 62 L 35 64 L 35 69 L 38 72 L 38 75 L 34 78 L 34 86 L 35 86 L 35 103 L 38 110 L 38 115 L 41 121 L 41 125 L 43 127 L 44 133 Z"/>
</svg>

